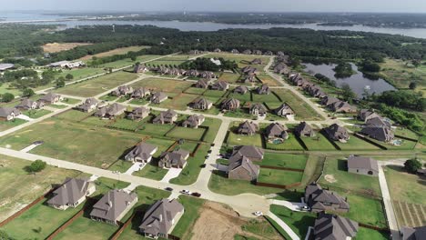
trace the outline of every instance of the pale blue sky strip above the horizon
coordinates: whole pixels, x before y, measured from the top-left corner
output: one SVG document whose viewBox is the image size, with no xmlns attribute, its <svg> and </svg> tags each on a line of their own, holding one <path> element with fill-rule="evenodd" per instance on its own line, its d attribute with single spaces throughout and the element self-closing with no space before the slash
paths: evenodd
<svg viewBox="0 0 426 240">
<path fill-rule="evenodd" d="M 0 10 L 426 13 L 426 0 L 0 0 Z"/>
</svg>

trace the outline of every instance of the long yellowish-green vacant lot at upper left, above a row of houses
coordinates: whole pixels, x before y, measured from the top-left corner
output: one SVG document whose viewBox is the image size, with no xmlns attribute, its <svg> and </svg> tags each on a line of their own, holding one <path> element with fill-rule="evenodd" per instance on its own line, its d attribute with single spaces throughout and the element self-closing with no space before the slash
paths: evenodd
<svg viewBox="0 0 426 240">
<path fill-rule="evenodd" d="M 99 95 L 107 90 L 113 89 L 118 85 L 124 85 L 137 79 L 137 75 L 126 72 L 117 72 L 110 75 L 103 75 L 75 85 L 66 85 L 55 92 L 64 95 L 76 95 L 89 97 Z"/>
</svg>

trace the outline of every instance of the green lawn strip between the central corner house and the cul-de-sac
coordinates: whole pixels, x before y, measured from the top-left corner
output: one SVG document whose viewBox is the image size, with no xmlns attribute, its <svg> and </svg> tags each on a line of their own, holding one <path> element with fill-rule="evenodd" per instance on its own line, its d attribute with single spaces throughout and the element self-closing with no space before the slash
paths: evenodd
<svg viewBox="0 0 426 240">
<path fill-rule="evenodd" d="M 269 195 L 282 192 L 282 189 L 257 186 L 249 181 L 228 179 L 224 172 L 213 171 L 208 182 L 208 188 L 221 195 L 240 195 L 251 193 L 256 195 Z"/>
</svg>

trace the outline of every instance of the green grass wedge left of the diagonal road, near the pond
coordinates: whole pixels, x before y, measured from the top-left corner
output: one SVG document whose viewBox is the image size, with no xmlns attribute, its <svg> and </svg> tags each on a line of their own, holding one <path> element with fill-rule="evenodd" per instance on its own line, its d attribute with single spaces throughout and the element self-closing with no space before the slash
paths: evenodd
<svg viewBox="0 0 426 240">
<path fill-rule="evenodd" d="M 312 107 L 288 89 L 274 89 L 274 93 L 293 109 L 297 120 L 322 120 L 322 117 Z"/>
</svg>

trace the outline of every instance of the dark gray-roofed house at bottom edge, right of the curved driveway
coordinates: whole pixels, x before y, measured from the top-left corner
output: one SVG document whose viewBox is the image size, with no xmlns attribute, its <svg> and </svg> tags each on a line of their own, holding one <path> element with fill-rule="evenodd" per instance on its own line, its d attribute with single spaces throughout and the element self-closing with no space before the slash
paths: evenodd
<svg viewBox="0 0 426 240">
<path fill-rule="evenodd" d="M 358 223 L 340 215 L 321 212 L 315 220 L 313 229 L 315 240 L 349 240 L 358 233 Z"/>
</svg>

